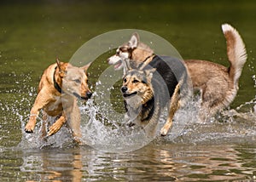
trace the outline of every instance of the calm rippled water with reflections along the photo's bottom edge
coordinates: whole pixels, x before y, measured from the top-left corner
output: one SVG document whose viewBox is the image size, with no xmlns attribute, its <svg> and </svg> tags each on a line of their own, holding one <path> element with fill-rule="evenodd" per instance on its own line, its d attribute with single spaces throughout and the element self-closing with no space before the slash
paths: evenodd
<svg viewBox="0 0 256 182">
<path fill-rule="evenodd" d="M 2 180 L 22 181 L 198 181 L 256 178 L 252 143 L 193 145 L 160 139 L 139 151 L 103 153 L 70 149 L 1 150 Z"/>
</svg>

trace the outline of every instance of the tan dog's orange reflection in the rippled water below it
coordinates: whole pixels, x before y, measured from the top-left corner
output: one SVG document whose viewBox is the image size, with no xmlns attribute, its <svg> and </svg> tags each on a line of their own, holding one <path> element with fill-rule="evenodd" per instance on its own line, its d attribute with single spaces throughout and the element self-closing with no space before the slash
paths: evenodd
<svg viewBox="0 0 256 182">
<path fill-rule="evenodd" d="M 81 181 L 82 156 L 80 149 L 59 151 L 23 151 L 20 172 L 26 181 Z"/>
</svg>

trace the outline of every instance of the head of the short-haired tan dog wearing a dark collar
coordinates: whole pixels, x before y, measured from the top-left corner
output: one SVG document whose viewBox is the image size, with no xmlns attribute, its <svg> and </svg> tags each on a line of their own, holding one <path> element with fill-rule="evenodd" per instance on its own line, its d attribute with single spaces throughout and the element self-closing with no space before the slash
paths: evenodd
<svg viewBox="0 0 256 182">
<path fill-rule="evenodd" d="M 69 63 L 57 62 L 58 75 L 61 78 L 61 89 L 65 94 L 74 95 L 81 100 L 90 99 L 92 93 L 88 87 L 87 69 L 90 63 L 76 67 Z"/>
</svg>

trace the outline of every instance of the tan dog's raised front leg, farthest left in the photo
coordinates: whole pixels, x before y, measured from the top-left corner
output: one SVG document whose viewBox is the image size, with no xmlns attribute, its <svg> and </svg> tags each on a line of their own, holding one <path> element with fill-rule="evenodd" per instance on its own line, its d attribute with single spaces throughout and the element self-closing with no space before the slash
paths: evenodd
<svg viewBox="0 0 256 182">
<path fill-rule="evenodd" d="M 44 105 L 47 105 L 47 103 L 49 102 L 49 94 L 45 94 L 45 93 L 46 92 L 44 92 L 44 90 L 41 90 L 38 93 L 35 103 L 32 106 L 32 109 L 30 111 L 29 121 L 26 123 L 26 127 L 25 127 L 26 133 L 33 133 L 34 128 L 36 126 L 39 111 L 42 108 L 44 108 Z"/>
</svg>

